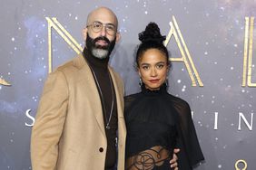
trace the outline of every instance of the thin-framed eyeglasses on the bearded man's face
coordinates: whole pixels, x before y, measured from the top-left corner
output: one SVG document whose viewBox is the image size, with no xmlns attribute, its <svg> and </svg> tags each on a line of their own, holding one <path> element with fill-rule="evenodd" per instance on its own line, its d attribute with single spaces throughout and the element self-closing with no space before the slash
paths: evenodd
<svg viewBox="0 0 256 170">
<path fill-rule="evenodd" d="M 99 33 L 105 27 L 106 33 L 109 35 L 114 35 L 116 33 L 116 27 L 114 24 L 102 24 L 101 22 L 94 22 L 93 24 L 88 24 L 86 28 L 91 27 L 94 33 Z"/>
</svg>

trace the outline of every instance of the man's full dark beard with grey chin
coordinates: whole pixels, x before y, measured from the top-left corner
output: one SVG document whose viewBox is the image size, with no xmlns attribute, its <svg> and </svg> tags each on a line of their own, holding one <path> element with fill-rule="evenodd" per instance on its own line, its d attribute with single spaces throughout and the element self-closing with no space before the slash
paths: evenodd
<svg viewBox="0 0 256 170">
<path fill-rule="evenodd" d="M 103 40 L 107 43 L 107 45 L 98 45 L 96 44 L 97 41 Z M 99 36 L 95 39 L 92 39 L 89 34 L 87 33 L 86 37 L 86 47 L 89 52 L 91 52 L 94 57 L 98 59 L 105 59 L 109 57 L 110 53 L 113 51 L 113 47 L 115 45 L 115 37 L 112 42 L 110 42 L 106 37 Z"/>
</svg>

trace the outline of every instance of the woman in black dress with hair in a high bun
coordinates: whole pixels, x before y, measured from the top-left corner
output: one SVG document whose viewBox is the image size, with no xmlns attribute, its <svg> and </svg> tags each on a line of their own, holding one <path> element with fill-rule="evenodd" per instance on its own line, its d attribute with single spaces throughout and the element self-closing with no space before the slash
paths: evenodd
<svg viewBox="0 0 256 170">
<path fill-rule="evenodd" d="M 136 68 L 142 91 L 125 97 L 125 169 L 171 169 L 174 147 L 181 148 L 179 170 L 192 169 L 204 158 L 188 103 L 166 90 L 171 63 L 162 44 L 165 36 L 157 24 L 150 23 L 139 33 L 139 40 L 142 43 L 136 52 Z"/>
</svg>

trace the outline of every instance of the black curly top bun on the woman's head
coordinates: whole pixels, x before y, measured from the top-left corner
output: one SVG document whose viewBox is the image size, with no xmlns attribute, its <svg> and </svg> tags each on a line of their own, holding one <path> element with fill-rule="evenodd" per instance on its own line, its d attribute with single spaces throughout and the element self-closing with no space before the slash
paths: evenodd
<svg viewBox="0 0 256 170">
<path fill-rule="evenodd" d="M 166 39 L 165 36 L 162 36 L 160 29 L 157 24 L 151 22 L 149 23 L 145 31 L 139 33 L 139 40 L 141 42 L 159 42 L 162 43 Z"/>
</svg>

